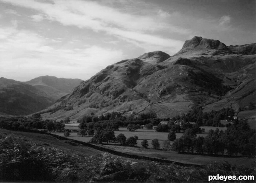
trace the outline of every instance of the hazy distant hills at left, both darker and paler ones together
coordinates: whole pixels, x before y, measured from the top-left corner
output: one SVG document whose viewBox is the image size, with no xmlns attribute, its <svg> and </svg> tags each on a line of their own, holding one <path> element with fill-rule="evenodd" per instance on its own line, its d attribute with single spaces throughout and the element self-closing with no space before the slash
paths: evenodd
<svg viewBox="0 0 256 183">
<path fill-rule="evenodd" d="M 0 78 L 0 115 L 27 115 L 43 110 L 79 85 L 80 79 L 41 76 L 28 82 Z"/>
</svg>

